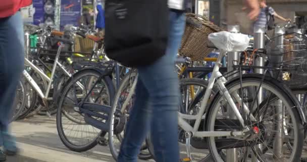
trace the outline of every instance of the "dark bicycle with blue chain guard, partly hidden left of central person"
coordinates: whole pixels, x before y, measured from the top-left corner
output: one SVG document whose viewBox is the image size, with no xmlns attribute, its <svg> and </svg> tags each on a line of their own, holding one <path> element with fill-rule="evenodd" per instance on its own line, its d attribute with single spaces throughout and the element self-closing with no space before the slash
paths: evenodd
<svg viewBox="0 0 307 162">
<path fill-rule="evenodd" d="M 106 145 L 104 120 L 108 116 L 104 111 L 110 109 L 115 94 L 113 69 L 112 62 L 84 67 L 66 82 L 56 119 L 59 137 L 70 150 L 83 152 Z"/>
</svg>

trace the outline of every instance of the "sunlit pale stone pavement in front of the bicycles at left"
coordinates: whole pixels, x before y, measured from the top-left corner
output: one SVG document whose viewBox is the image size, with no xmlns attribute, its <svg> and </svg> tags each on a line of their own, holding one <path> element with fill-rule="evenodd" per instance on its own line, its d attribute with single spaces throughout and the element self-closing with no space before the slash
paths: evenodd
<svg viewBox="0 0 307 162">
<path fill-rule="evenodd" d="M 12 132 L 17 137 L 21 152 L 18 156 L 8 157 L 9 162 L 115 161 L 109 146 L 96 146 L 82 153 L 70 151 L 58 136 L 55 117 L 35 116 L 15 121 Z"/>
</svg>

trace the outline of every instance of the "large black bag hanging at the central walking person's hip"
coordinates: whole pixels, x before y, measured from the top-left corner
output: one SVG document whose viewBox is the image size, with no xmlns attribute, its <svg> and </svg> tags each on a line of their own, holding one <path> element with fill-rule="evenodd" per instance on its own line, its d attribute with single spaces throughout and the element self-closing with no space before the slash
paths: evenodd
<svg viewBox="0 0 307 162">
<path fill-rule="evenodd" d="M 107 0 L 105 47 L 110 59 L 129 67 L 162 57 L 169 36 L 167 0 Z"/>
</svg>

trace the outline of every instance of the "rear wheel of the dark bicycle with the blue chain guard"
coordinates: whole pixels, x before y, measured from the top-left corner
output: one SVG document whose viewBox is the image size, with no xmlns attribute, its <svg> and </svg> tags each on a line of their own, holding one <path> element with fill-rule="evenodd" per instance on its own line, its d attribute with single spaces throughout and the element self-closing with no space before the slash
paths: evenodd
<svg viewBox="0 0 307 162">
<path fill-rule="evenodd" d="M 88 125 L 84 113 L 79 111 L 79 103 L 93 88 L 86 102 L 111 105 L 114 85 L 109 76 L 98 80 L 100 72 L 92 69 L 81 70 L 68 80 L 57 111 L 57 130 L 63 144 L 76 152 L 87 151 L 97 145 L 101 130 Z M 98 80 L 98 84 L 94 86 Z"/>
</svg>

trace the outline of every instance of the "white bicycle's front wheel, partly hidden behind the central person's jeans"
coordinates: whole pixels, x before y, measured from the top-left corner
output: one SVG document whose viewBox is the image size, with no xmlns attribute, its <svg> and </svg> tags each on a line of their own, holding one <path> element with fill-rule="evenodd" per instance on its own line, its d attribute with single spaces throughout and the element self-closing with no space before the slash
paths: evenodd
<svg viewBox="0 0 307 162">
<path fill-rule="evenodd" d="M 137 71 L 132 70 L 122 79 L 122 83 L 119 86 L 119 89 L 115 95 L 115 100 L 112 106 L 112 111 L 110 115 L 110 129 L 109 129 L 109 146 L 110 151 L 115 160 L 120 150 L 122 139 L 125 135 L 126 123 L 129 120 L 129 110 L 133 106 L 134 100 L 134 89 L 132 89 L 134 80 L 137 76 Z M 129 92 L 132 96 L 128 97 Z M 127 101 L 126 101 L 127 100 Z M 123 107 L 124 102 L 127 102 L 127 105 Z M 123 109 L 123 111 L 121 111 Z M 141 151 L 138 154 L 140 159 L 150 159 L 152 158 L 151 154 L 147 150 L 146 143 L 144 142 L 141 146 Z"/>
</svg>

